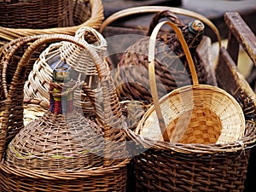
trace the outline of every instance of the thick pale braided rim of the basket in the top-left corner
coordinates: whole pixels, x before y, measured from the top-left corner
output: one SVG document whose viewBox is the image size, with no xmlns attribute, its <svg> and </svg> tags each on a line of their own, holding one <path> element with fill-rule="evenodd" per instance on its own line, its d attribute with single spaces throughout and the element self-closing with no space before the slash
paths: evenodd
<svg viewBox="0 0 256 192">
<path fill-rule="evenodd" d="M 80 24 L 79 26 L 55 27 L 48 29 L 16 29 L 0 26 L 0 38 L 11 41 L 15 38 L 40 34 L 60 33 L 73 35 L 81 26 L 91 26 L 93 28 L 98 28 L 101 26 L 102 20 L 104 19 L 102 0 L 90 0 L 90 9 L 90 19 L 85 20 L 84 23 Z"/>
</svg>

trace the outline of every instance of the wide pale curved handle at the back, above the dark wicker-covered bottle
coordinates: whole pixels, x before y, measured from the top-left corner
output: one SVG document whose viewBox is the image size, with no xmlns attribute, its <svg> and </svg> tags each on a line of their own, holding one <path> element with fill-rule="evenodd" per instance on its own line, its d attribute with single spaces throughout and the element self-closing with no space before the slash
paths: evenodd
<svg viewBox="0 0 256 192">
<path fill-rule="evenodd" d="M 181 9 L 181 8 L 174 8 L 174 7 L 167 7 L 167 6 L 139 6 L 135 8 L 129 8 L 129 9 L 123 9 L 120 10 L 113 15 L 109 16 L 106 20 L 102 22 L 102 26 L 100 28 L 100 32 L 103 32 L 103 30 L 108 26 L 110 23 L 112 23 L 114 20 L 118 20 L 120 18 L 123 18 L 125 16 L 135 15 L 135 14 L 148 14 L 148 13 L 157 13 L 163 10 L 170 10 L 174 14 L 178 15 L 186 15 L 193 17 L 195 19 L 201 20 L 203 23 L 205 23 L 207 26 L 209 26 L 212 31 L 215 33 L 217 39 L 218 39 L 218 45 L 221 47 L 221 38 L 220 34 L 218 32 L 218 29 L 211 20 L 207 19 L 207 17 L 197 14 L 193 11 L 187 10 L 187 9 Z"/>
</svg>

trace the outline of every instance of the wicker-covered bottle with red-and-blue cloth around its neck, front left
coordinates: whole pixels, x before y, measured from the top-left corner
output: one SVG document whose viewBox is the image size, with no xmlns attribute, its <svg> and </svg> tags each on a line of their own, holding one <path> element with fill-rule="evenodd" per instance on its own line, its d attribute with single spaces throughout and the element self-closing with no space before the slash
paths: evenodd
<svg viewBox="0 0 256 192">
<path fill-rule="evenodd" d="M 79 170 L 102 166 L 101 127 L 73 105 L 79 81 L 56 68 L 49 84 L 49 111 L 26 125 L 9 143 L 5 163 L 33 170 Z"/>
</svg>

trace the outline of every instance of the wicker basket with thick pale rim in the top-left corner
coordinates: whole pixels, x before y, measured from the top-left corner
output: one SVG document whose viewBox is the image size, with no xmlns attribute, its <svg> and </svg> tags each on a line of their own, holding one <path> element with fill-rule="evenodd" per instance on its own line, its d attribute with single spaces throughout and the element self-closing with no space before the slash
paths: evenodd
<svg viewBox="0 0 256 192">
<path fill-rule="evenodd" d="M 101 0 L 17 0 L 9 3 L 0 1 L 0 4 L 0 13 L 3 16 L 0 23 L 0 44 L 15 38 L 39 34 L 73 35 L 81 26 L 100 27 L 104 18 Z M 56 13 L 60 11 L 58 16 L 64 19 L 56 17 Z M 20 15 L 25 22 L 19 26 Z M 55 18 L 54 24 L 48 22 Z M 70 21 L 67 23 L 62 20 Z"/>
</svg>

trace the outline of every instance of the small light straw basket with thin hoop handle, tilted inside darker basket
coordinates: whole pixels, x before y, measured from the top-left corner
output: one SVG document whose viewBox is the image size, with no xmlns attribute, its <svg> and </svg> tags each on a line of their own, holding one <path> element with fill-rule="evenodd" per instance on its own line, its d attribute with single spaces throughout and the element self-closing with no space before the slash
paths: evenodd
<svg viewBox="0 0 256 192">
<path fill-rule="evenodd" d="M 164 24 L 172 26 L 179 38 L 193 79 L 193 85 L 172 90 L 160 100 L 154 75 L 156 36 Z M 149 83 L 154 105 L 140 120 L 137 133 L 153 140 L 172 143 L 229 143 L 241 138 L 245 118 L 241 106 L 226 91 L 199 84 L 194 62 L 177 25 L 164 21 L 154 28 L 148 49 Z"/>
</svg>

